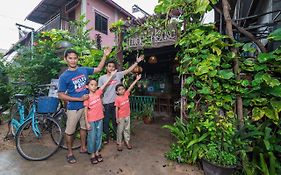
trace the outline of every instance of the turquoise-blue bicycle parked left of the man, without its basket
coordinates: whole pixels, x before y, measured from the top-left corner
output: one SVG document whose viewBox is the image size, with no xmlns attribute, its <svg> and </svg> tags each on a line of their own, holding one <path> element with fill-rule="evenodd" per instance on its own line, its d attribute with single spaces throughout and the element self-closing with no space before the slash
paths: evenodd
<svg viewBox="0 0 281 175">
<path fill-rule="evenodd" d="M 24 85 L 30 85 L 34 89 L 31 84 L 25 83 Z M 27 96 L 24 94 L 14 96 L 18 115 L 12 116 L 10 127 L 15 133 L 17 151 L 27 160 L 45 160 L 49 158 L 58 150 L 63 138 L 61 127 L 57 121 L 51 118 L 49 114 L 40 114 L 37 111 L 37 102 L 38 98 L 40 98 L 40 93 L 38 92 L 43 87 L 46 87 L 46 85 L 39 85 L 32 100 L 29 100 L 31 105 L 27 115 L 25 114 L 24 104 Z"/>
</svg>

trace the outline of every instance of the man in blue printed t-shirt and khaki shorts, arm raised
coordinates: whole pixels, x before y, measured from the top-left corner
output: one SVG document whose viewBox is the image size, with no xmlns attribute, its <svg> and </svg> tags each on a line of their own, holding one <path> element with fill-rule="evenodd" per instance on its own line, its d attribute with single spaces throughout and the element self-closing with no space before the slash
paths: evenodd
<svg viewBox="0 0 281 175">
<path fill-rule="evenodd" d="M 77 160 L 72 151 L 73 134 L 76 130 L 78 121 L 80 122 L 81 148 L 80 153 L 86 153 L 86 124 L 84 116 L 83 101 L 89 96 L 86 94 L 86 82 L 88 76 L 100 72 L 105 64 L 107 56 L 111 49 L 105 49 L 103 57 L 96 68 L 79 67 L 78 54 L 75 50 L 66 50 L 64 60 L 68 69 L 59 77 L 58 97 L 61 100 L 68 101 L 67 104 L 67 121 L 65 129 L 65 139 L 68 148 L 66 156 L 68 163 L 76 163 Z"/>
</svg>

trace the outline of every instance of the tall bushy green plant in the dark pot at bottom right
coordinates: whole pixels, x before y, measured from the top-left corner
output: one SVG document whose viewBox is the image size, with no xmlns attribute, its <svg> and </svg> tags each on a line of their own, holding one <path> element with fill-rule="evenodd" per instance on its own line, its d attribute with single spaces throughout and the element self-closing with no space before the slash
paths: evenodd
<svg viewBox="0 0 281 175">
<path fill-rule="evenodd" d="M 236 152 L 239 150 L 239 145 L 234 144 L 237 132 L 236 118 L 232 111 L 225 112 L 225 109 L 212 108 L 208 112 L 205 115 L 211 120 L 204 121 L 204 126 L 207 126 L 210 139 L 206 142 L 206 149 L 202 156 L 204 173 L 231 175 L 238 164 Z"/>
</svg>

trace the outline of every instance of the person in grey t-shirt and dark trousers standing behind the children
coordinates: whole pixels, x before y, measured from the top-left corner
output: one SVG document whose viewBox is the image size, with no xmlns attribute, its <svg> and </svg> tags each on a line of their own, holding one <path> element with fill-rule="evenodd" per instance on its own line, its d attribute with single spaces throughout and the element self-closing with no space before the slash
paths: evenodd
<svg viewBox="0 0 281 175">
<path fill-rule="evenodd" d="M 128 69 L 117 72 L 115 74 L 115 77 L 109 82 L 109 84 L 106 86 L 104 90 L 104 95 L 103 95 L 103 105 L 104 105 L 104 112 L 105 112 L 105 117 L 103 119 L 103 131 L 106 134 L 106 140 L 104 141 L 104 144 L 107 144 L 109 142 L 109 122 L 110 119 L 112 120 L 112 125 L 113 125 L 113 139 L 116 140 L 116 118 L 115 118 L 115 98 L 116 98 L 116 92 L 115 92 L 115 87 L 117 84 L 121 83 L 121 79 L 124 77 L 124 75 L 128 74 L 131 72 L 139 62 L 141 62 L 144 59 L 144 55 L 141 55 L 136 59 L 136 62 L 132 64 Z M 105 65 L 106 68 L 106 74 L 101 76 L 99 78 L 98 86 L 101 87 L 108 77 L 110 76 L 111 72 L 113 72 L 116 69 L 116 63 L 114 61 L 108 61 Z"/>
</svg>

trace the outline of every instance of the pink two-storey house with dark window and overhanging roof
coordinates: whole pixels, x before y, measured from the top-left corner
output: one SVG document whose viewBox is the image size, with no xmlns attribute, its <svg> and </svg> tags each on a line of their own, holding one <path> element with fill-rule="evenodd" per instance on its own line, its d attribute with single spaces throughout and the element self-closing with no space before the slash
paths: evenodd
<svg viewBox="0 0 281 175">
<path fill-rule="evenodd" d="M 112 0 L 42 0 L 26 17 L 26 19 L 42 24 L 36 32 L 51 29 L 70 30 L 69 21 L 85 15 L 90 20 L 87 29 L 92 28 L 90 38 L 101 36 L 101 46 L 114 46 L 115 35 L 109 31 L 111 23 L 119 19 L 135 18 Z M 36 33 L 35 32 L 35 33 Z M 5 55 L 11 54 L 18 44 L 29 45 L 31 34 L 21 38 Z"/>
</svg>

